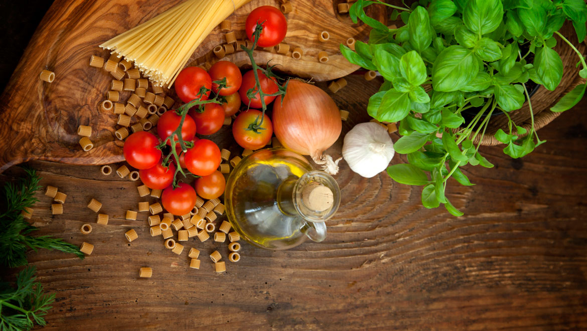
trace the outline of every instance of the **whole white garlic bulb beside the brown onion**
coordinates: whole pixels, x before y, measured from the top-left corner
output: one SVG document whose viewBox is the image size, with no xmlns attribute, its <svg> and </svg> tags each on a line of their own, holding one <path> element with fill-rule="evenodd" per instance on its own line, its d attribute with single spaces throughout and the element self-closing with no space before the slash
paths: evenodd
<svg viewBox="0 0 587 331">
<path fill-rule="evenodd" d="M 360 123 L 345 136 L 342 157 L 350 169 L 366 178 L 384 171 L 393 158 L 393 141 L 377 123 Z"/>
</svg>

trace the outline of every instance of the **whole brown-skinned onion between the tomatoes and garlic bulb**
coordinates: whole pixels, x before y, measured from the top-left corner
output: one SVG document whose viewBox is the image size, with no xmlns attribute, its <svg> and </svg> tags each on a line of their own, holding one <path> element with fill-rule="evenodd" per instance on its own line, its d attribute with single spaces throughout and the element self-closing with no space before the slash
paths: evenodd
<svg viewBox="0 0 587 331">
<path fill-rule="evenodd" d="M 273 131 L 289 150 L 309 155 L 322 170 L 338 173 L 338 161 L 322 154 L 340 136 L 342 120 L 336 103 L 319 87 L 289 80 L 283 104 L 273 103 Z"/>
</svg>

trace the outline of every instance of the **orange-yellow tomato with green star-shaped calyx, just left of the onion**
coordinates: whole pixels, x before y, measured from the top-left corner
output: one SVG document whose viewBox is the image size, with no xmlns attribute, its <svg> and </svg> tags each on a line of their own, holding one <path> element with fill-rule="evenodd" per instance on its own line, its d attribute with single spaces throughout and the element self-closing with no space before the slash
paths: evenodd
<svg viewBox="0 0 587 331">
<path fill-rule="evenodd" d="M 249 109 L 246 112 L 242 112 L 237 116 L 237 119 L 232 123 L 232 136 L 234 140 L 242 148 L 248 148 L 249 150 L 257 150 L 261 147 L 265 147 L 266 144 L 271 140 L 273 135 L 273 126 L 271 126 L 271 120 L 269 116 L 265 114 L 263 117 L 263 124 L 261 128 L 265 130 L 258 130 L 258 133 L 253 130 L 247 130 L 250 124 L 255 123 L 257 118 L 261 120 L 262 113 L 256 109 Z M 258 122 L 257 122 L 258 123 Z"/>
</svg>

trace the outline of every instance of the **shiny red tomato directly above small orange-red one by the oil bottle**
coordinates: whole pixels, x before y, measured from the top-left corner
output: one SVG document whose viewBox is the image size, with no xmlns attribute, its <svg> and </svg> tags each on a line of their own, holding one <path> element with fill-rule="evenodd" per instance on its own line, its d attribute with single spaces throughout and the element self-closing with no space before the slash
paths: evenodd
<svg viewBox="0 0 587 331">
<path fill-rule="evenodd" d="M 220 148 L 214 141 L 200 139 L 194 143 L 194 147 L 185 153 L 185 167 L 190 173 L 198 176 L 206 176 L 214 173 L 220 166 Z M 194 207 L 194 206 L 192 206 Z"/>
</svg>

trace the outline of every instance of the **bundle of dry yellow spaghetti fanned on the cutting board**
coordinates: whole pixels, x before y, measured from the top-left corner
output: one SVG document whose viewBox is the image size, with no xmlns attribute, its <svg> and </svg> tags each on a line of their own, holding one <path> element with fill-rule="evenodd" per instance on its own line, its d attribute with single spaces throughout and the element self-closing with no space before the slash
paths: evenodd
<svg viewBox="0 0 587 331">
<path fill-rule="evenodd" d="M 171 87 L 212 29 L 249 1 L 187 0 L 100 47 L 134 62 L 155 85 Z"/>
</svg>

